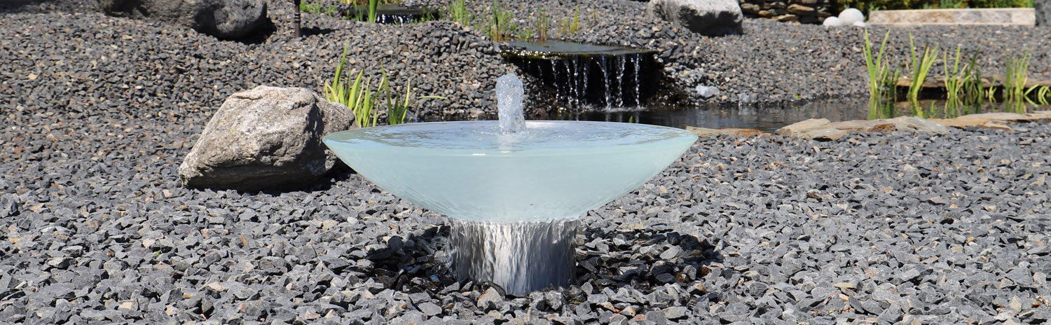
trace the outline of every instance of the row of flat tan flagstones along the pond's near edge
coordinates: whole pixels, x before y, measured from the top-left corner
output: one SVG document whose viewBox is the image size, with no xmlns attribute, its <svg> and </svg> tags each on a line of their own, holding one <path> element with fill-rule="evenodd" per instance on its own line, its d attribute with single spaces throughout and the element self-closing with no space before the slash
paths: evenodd
<svg viewBox="0 0 1051 325">
<path fill-rule="evenodd" d="M 966 115 L 953 119 L 922 119 L 918 117 L 900 117 L 886 120 L 857 120 L 830 122 L 828 119 L 809 119 L 779 128 L 775 134 L 799 139 L 839 140 L 850 133 L 882 133 L 906 130 L 926 134 L 946 134 L 949 127 L 967 128 L 984 127 L 1003 130 L 1013 130 L 1009 125 L 1014 122 L 1051 121 L 1051 110 L 1031 114 L 1014 113 L 983 113 Z M 756 137 L 766 135 L 750 128 L 703 128 L 687 126 L 698 137 L 737 136 Z"/>
</svg>

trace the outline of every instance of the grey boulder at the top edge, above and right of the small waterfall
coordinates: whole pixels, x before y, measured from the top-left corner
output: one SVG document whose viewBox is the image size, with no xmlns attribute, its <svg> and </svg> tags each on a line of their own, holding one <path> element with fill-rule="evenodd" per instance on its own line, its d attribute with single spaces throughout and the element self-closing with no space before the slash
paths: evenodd
<svg viewBox="0 0 1051 325">
<path fill-rule="evenodd" d="M 741 34 L 741 6 L 737 0 L 653 0 L 651 15 L 707 36 Z"/>
</svg>

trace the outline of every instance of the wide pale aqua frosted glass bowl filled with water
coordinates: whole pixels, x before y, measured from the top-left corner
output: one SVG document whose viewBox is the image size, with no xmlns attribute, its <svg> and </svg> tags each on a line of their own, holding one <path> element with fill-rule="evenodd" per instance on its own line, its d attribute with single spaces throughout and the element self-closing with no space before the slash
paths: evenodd
<svg viewBox="0 0 1051 325">
<path fill-rule="evenodd" d="M 325 144 L 380 188 L 473 221 L 576 218 L 637 188 L 697 140 L 665 126 L 527 121 L 410 123 L 330 134 Z"/>
</svg>

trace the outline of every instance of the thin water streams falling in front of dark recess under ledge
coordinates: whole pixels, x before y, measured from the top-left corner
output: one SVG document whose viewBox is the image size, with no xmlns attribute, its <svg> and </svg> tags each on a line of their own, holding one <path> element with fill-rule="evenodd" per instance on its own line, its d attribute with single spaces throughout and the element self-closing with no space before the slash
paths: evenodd
<svg viewBox="0 0 1051 325">
<path fill-rule="evenodd" d="M 555 94 L 555 106 L 577 110 L 642 105 L 656 93 L 656 52 L 565 42 L 510 43 L 503 56 Z"/>
</svg>

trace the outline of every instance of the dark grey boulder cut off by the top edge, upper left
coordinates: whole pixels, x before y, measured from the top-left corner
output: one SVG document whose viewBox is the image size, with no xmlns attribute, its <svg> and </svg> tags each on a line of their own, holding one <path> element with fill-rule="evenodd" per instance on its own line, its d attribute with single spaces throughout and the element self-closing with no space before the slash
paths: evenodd
<svg viewBox="0 0 1051 325">
<path fill-rule="evenodd" d="M 265 0 L 99 0 L 117 17 L 179 24 L 220 39 L 252 36 L 266 21 Z"/>
</svg>

